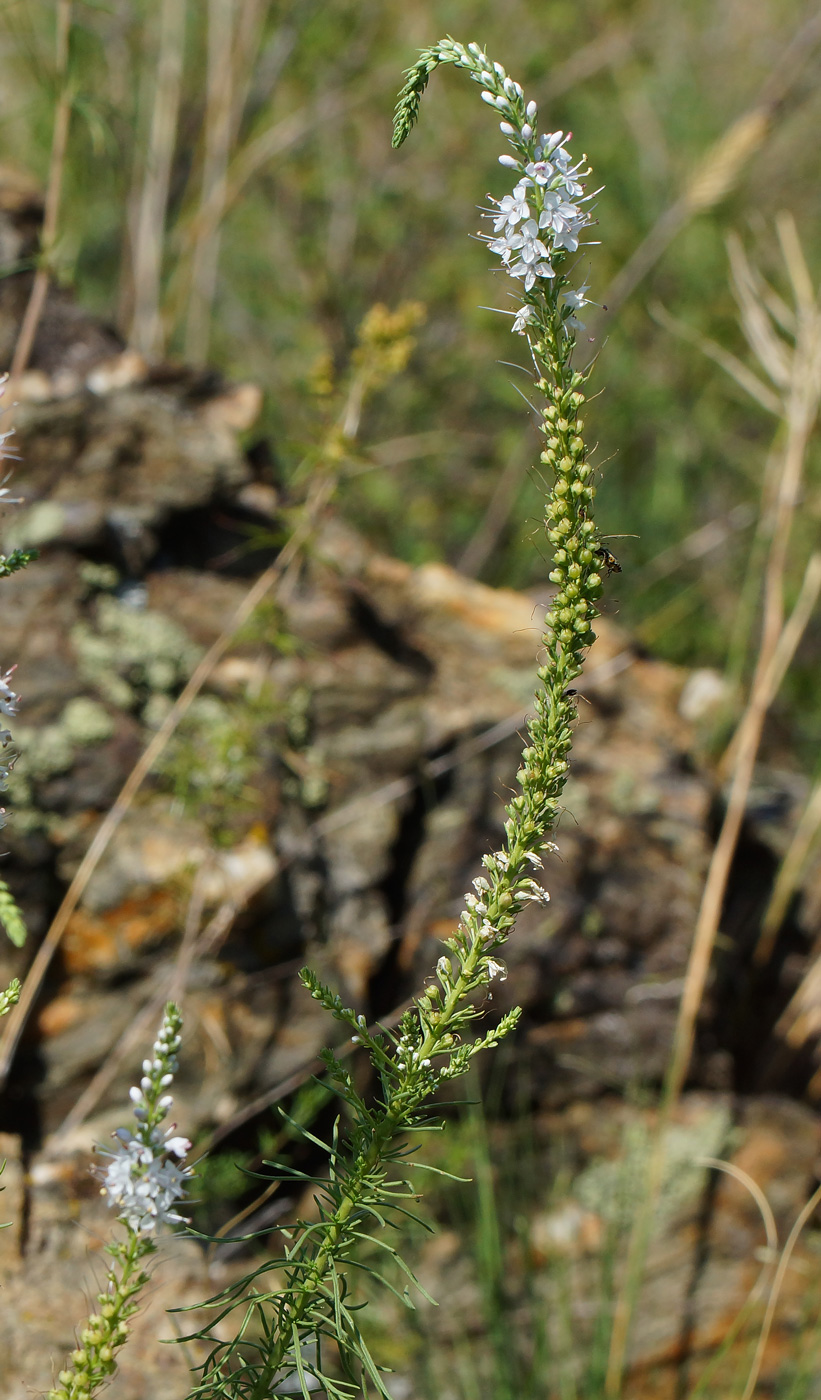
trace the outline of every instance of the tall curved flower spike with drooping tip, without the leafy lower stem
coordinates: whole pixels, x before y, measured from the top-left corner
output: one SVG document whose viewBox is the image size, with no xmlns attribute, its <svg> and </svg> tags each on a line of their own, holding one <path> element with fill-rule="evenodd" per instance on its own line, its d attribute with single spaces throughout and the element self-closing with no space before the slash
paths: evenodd
<svg viewBox="0 0 821 1400">
<path fill-rule="evenodd" d="M 513 190 L 490 197 L 486 217 L 493 231 L 482 235 L 503 270 L 517 284 L 521 298 L 511 329 L 527 336 L 537 368 L 535 392 L 541 393 L 545 448 L 541 461 L 553 473 L 545 503 L 545 526 L 553 547 L 551 582 L 556 585 L 545 619 L 542 687 L 534 697 L 528 745 L 518 771 L 521 792 L 507 808 L 506 848 L 485 858 L 488 879 L 465 899 L 460 930 L 448 939 L 455 966 L 440 987 L 420 1001 L 423 1022 L 439 1014 L 439 1001 L 460 972 L 474 966 L 475 949 L 483 953 L 485 977 L 490 958 L 510 937 L 517 914 L 528 903 L 545 903 L 546 890 L 528 872 L 549 843 L 559 799 L 569 770 L 569 750 L 576 720 L 572 683 L 581 669 L 584 650 L 594 640 L 595 599 L 601 592 L 597 570 L 598 535 L 593 521 L 593 469 L 587 462 L 581 409 L 588 370 L 572 364 L 576 318 L 587 305 L 588 287 L 576 290 L 566 273 L 567 259 L 593 223 L 584 181 L 586 157 L 576 160 L 565 132 L 541 132 L 538 106 L 518 83 L 507 77 L 475 45 L 453 39 L 426 49 L 406 74 L 395 116 L 394 143 L 399 146 L 413 120 L 419 98 L 436 63 L 464 69 L 482 88 L 482 101 L 500 119 L 510 154 L 500 164 L 514 172 Z M 516 295 L 516 294 L 514 294 Z"/>
</svg>

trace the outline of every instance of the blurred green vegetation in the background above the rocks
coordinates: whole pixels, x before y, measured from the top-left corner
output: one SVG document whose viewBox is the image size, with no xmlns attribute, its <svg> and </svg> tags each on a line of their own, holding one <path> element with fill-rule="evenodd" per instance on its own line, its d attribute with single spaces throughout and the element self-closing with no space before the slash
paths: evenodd
<svg viewBox="0 0 821 1400">
<path fill-rule="evenodd" d="M 219 3 L 186 10 L 163 258 L 171 356 L 185 349 L 207 17 Z M 77 3 L 73 10 L 74 115 L 55 256 L 80 300 L 109 319 L 119 316 L 123 328 L 129 210 L 144 160 L 160 10 L 161 0 Z M 537 97 L 544 125 L 574 132 L 604 183 L 601 246 L 580 266 L 604 302 L 619 269 L 703 169 L 713 144 L 772 97 L 775 74 L 778 101 L 759 144 L 719 179 L 712 207 L 684 220 L 626 301 L 601 309 L 588 328 L 602 388 L 587 424 L 601 444 L 598 515 L 605 533 L 628 536 L 612 546 L 623 574 L 612 581 L 608 610 L 654 652 L 723 668 L 733 641 L 738 651 L 750 524 L 665 574 L 647 566 L 734 507 L 751 507 L 736 519 L 754 518 L 773 421 L 651 309 L 660 302 L 748 360 L 729 288 L 727 234 L 741 234 L 783 291 L 773 218 L 790 210 L 810 266 L 818 269 L 821 53 L 800 42 L 789 49 L 813 7 L 799 0 L 234 0 L 234 22 L 252 10 L 261 28 L 228 164 L 237 197 L 221 227 L 210 339 L 200 349 L 227 374 L 265 388 L 258 431 L 270 437 L 287 477 L 317 435 L 317 374 L 343 374 L 356 328 L 374 302 L 423 302 L 427 323 L 410 371 L 368 406 L 363 433 L 373 444 L 413 441 L 405 455 L 394 452 L 394 465 L 350 480 L 342 510 L 381 547 L 413 561 L 458 564 L 485 521 L 497 538 L 479 559 L 481 577 L 514 587 L 539 587 L 545 574 L 539 482 L 527 466 L 537 459 L 537 440 L 517 392 L 527 392 L 527 377 L 499 365 L 523 361 L 524 342 L 486 309 L 504 305 L 507 288 L 493 280 L 486 249 L 469 237 L 485 192 L 507 188 L 496 164 L 500 139 L 471 85 L 443 71 L 419 129 L 392 153 L 402 69 L 419 46 L 446 32 L 476 38 Z M 13 0 L 1 13 L 7 91 L 0 158 L 43 179 L 53 22 L 50 0 Z M 254 164 L 249 153 L 268 141 L 266 133 L 279 154 L 242 181 L 242 169 Z M 495 500 L 507 465 L 510 489 Z M 811 483 L 799 525 L 806 540 L 817 531 L 817 470 Z M 801 547 L 796 560 L 797 587 Z M 807 759 L 821 732 L 811 680 L 820 650 L 815 624 L 780 701 L 790 743 Z M 778 724 L 773 732 L 778 748 Z"/>
</svg>

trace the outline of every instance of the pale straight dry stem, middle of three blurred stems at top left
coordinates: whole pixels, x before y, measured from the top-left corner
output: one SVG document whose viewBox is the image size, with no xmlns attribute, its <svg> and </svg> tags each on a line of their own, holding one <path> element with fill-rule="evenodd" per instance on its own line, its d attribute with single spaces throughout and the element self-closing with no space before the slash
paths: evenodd
<svg viewBox="0 0 821 1400">
<path fill-rule="evenodd" d="M 154 108 L 132 234 L 133 315 L 129 342 L 147 356 L 163 350 L 160 281 L 185 57 L 185 7 L 186 0 L 163 0 Z"/>
</svg>

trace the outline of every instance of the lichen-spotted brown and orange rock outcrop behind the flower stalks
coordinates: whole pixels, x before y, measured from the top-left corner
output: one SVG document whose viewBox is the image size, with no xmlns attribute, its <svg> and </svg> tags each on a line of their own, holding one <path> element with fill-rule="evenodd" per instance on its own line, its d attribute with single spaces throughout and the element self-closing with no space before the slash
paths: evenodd
<svg viewBox="0 0 821 1400">
<path fill-rule="evenodd" d="M 21 386 L 25 504 L 6 518 L 7 545 L 42 557 L 1 584 L 3 661 L 24 696 L 3 876 L 31 930 L 24 951 L 0 945 L 3 983 L 25 973 L 142 749 L 276 556 L 289 504 L 266 452 L 242 445 L 252 386 L 150 371 L 94 323 L 71 326 L 83 353 L 55 365 L 42 350 Z M 235 637 L 71 917 L 1 1102 L 3 1214 L 17 1222 L 0 1233 L 3 1400 L 46 1386 L 71 1343 L 106 1231 L 90 1154 L 123 1117 L 168 988 L 186 1015 L 179 1123 L 230 1151 L 333 1033 L 296 983 L 303 962 L 368 1016 L 389 1016 L 419 986 L 499 836 L 544 605 L 387 559 L 328 510 L 298 573 Z M 623 1156 L 611 1127 L 626 1110 L 612 1095 L 663 1072 L 720 808 L 702 762 L 715 687 L 643 655 L 607 619 L 598 633 L 551 904 L 521 920 L 489 1007 L 524 1007 L 516 1093 L 545 1131 L 570 1134 L 579 1180 Z M 681 1120 L 688 1152 L 747 1163 L 782 1229 L 817 1170 L 814 1119 L 792 1102 L 811 1057 L 775 1030 L 813 959 L 817 890 L 769 966 L 750 967 L 801 795 L 794 776 L 761 777 Z M 758 1268 L 750 1200 L 726 1183 L 708 1200 L 696 1177 L 654 1245 L 637 1376 L 681 1359 L 687 1329 L 696 1350 L 715 1337 Z M 534 1259 L 580 1261 L 579 1296 L 607 1217 L 598 1190 L 574 1186 L 530 1212 Z M 455 1296 L 467 1266 L 448 1239 L 450 1256 L 439 1242 L 422 1264 L 434 1294 L 444 1282 Z M 123 1397 L 185 1390 L 182 1354 L 150 1338 L 170 1299 L 210 1285 L 195 1245 L 168 1249 L 116 1382 Z M 448 1316 L 458 1309 L 440 1315 L 446 1333 Z"/>
</svg>

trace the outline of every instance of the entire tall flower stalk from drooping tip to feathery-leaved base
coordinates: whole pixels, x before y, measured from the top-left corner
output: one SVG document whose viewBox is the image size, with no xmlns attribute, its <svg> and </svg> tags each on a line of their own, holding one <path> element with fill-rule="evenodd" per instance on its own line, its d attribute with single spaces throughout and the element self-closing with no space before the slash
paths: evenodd
<svg viewBox="0 0 821 1400">
<path fill-rule="evenodd" d="M 509 312 L 511 329 L 527 339 L 535 392 L 544 400 L 541 461 L 552 476 L 545 528 L 553 550 L 551 581 L 556 595 L 545 619 L 539 687 L 517 774 L 520 791 L 506 812 L 504 843 L 485 855 L 485 872 L 465 895 L 458 928 L 446 939 L 447 951 L 434 976 L 405 1012 L 398 1032 L 368 1029 L 364 1016 L 345 1007 L 310 969 L 300 974 L 311 995 L 346 1023 L 352 1040 L 364 1049 L 378 1089 L 373 1102 L 366 1102 L 345 1065 L 325 1051 L 328 1078 L 345 1114 L 333 1140 L 321 1144 L 329 1175 L 315 1179 L 319 1218 L 283 1231 L 282 1259 L 210 1301 L 223 1329 L 234 1309 L 241 1309 L 242 1324 L 235 1341 L 226 1343 L 214 1330 L 193 1334 L 210 1340 L 212 1351 L 192 1397 L 272 1400 L 298 1389 L 308 1396 L 318 1386 L 331 1400 L 346 1400 L 363 1383 L 387 1394 L 356 1310 L 346 1302 L 345 1264 L 357 1242 L 367 1239 L 413 1277 L 378 1232 L 391 1212 L 410 1214 L 408 1203 L 416 1198 L 402 1175 L 412 1165 L 402 1135 L 430 1127 L 425 1105 L 432 1095 L 465 1074 L 481 1050 L 496 1046 L 514 1028 L 518 1009 L 483 1035 L 469 1033 L 482 1015 L 488 988 L 506 974 L 497 955 L 518 914 L 528 903 L 545 904 L 549 899 L 538 872 L 545 851 L 553 848 L 549 834 L 567 778 L 576 720 L 572 686 L 594 640 L 595 601 L 602 588 L 598 561 L 607 557 L 593 521 L 595 489 L 583 437 L 590 370 L 577 370 L 572 363 L 576 330 L 581 329 L 576 312 L 587 304 L 588 288 L 574 287 L 567 274 L 567 260 L 579 252 L 580 237 L 593 223 L 593 196 L 584 193 L 586 158 L 573 162 L 569 136 L 539 134 L 537 104 L 525 101 L 521 87 L 478 45 L 464 48 L 444 39 L 420 55 L 399 97 L 394 146 L 416 122 L 425 87 L 440 63 L 464 69 L 482 87 L 482 98 L 502 119 L 510 147 L 500 161 L 514 172 L 513 193 L 492 199 L 485 211 L 493 232 L 481 237 L 513 280 L 517 305 Z M 269 1165 L 282 1180 L 297 1176 L 305 1184 L 300 1173 Z M 370 1233 L 374 1224 L 377 1231 Z M 261 1282 L 268 1270 L 279 1271 L 270 1289 Z M 342 1365 L 343 1379 L 325 1369 L 322 1348 L 328 1345 Z"/>
</svg>

